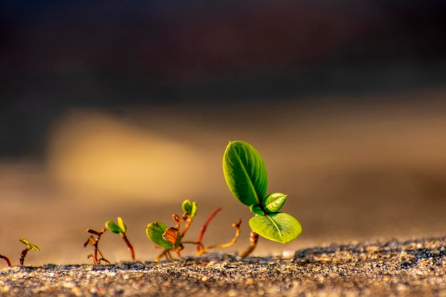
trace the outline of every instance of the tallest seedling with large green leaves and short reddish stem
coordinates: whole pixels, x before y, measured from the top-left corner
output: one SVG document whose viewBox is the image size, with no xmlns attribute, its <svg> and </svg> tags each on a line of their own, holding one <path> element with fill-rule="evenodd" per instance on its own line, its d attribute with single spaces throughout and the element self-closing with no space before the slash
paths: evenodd
<svg viewBox="0 0 446 297">
<path fill-rule="evenodd" d="M 223 173 L 234 197 L 255 214 L 249 219 L 250 245 L 241 256 L 251 254 L 259 235 L 280 243 L 287 243 L 301 234 L 302 226 L 290 214 L 279 212 L 286 194 L 266 194 L 268 174 L 261 155 L 244 141 L 231 141 L 223 155 Z"/>
</svg>

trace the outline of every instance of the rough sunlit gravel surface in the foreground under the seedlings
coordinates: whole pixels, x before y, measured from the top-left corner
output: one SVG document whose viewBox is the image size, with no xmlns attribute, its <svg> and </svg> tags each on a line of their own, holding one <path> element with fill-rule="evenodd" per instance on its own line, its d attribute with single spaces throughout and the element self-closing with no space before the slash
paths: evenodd
<svg viewBox="0 0 446 297">
<path fill-rule="evenodd" d="M 0 296 L 446 296 L 446 237 L 113 265 L 13 266 Z"/>
</svg>

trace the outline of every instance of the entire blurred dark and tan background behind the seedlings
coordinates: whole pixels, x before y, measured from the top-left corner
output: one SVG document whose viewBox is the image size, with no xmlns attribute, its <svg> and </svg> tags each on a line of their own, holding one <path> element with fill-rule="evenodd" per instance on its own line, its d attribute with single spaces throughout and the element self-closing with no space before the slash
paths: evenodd
<svg viewBox="0 0 446 297">
<path fill-rule="evenodd" d="M 90 263 L 86 228 L 145 236 L 197 201 L 194 240 L 242 235 L 229 140 L 250 142 L 269 192 L 303 225 L 255 255 L 445 234 L 445 1 L 1 1 L 0 254 Z M 100 242 L 130 256 L 118 235 Z M 184 254 L 194 254 L 190 246 Z M 0 267 L 4 264 L 0 264 Z"/>
</svg>

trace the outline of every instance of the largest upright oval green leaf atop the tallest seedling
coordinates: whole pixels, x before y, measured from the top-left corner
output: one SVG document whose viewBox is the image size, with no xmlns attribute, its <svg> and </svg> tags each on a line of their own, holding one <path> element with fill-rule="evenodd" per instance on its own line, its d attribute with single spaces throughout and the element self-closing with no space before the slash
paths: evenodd
<svg viewBox="0 0 446 297">
<path fill-rule="evenodd" d="M 259 204 L 268 187 L 268 173 L 261 155 L 244 141 L 231 141 L 223 155 L 223 174 L 229 190 L 245 205 Z"/>
</svg>

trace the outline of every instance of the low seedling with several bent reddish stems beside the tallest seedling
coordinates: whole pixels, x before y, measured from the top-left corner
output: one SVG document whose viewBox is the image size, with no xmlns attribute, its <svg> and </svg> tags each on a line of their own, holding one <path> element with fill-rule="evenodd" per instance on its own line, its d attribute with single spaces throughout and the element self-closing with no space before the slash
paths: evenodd
<svg viewBox="0 0 446 297">
<path fill-rule="evenodd" d="M 204 223 L 197 241 L 183 241 L 182 239 L 185 236 L 186 231 L 189 229 L 190 224 L 192 224 L 193 218 L 197 214 L 197 203 L 190 202 L 190 200 L 187 199 L 182 203 L 182 210 L 184 212 L 182 217 L 178 216 L 177 214 L 172 215 L 172 219 L 177 223 L 174 227 L 168 227 L 161 222 L 152 222 L 147 225 L 147 237 L 154 244 L 157 244 L 157 246 L 160 246 L 163 249 L 162 253 L 155 259 L 155 262 L 160 261 L 160 259 L 162 259 L 162 257 L 164 256 L 166 257 L 166 259 L 172 260 L 172 254 L 170 254 L 171 251 L 175 251 L 177 256 L 181 257 L 180 251 L 184 249 L 183 244 L 196 244 L 197 254 L 201 255 L 202 253 L 204 253 L 204 251 L 207 251 L 209 249 L 226 247 L 234 244 L 240 234 L 240 222 L 238 222 L 237 224 L 233 224 L 233 226 L 237 227 L 237 231 L 236 236 L 234 237 L 234 239 L 232 239 L 231 242 L 229 242 L 228 244 L 203 247 L 202 238 L 204 232 L 206 231 L 209 222 L 215 217 L 215 214 L 217 214 L 217 212 L 221 210 L 221 208 L 219 208 L 212 212 L 207 221 Z M 186 224 L 180 232 L 180 226 L 183 222 L 186 222 Z"/>
</svg>

